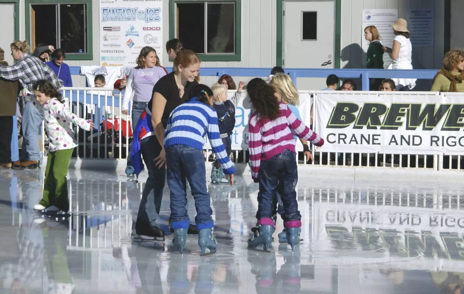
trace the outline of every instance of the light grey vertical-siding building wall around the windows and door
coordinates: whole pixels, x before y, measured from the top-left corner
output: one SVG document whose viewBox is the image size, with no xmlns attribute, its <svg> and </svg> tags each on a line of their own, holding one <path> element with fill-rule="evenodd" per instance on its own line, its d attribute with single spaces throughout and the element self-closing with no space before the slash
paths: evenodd
<svg viewBox="0 0 464 294">
<path fill-rule="evenodd" d="M 461 0 L 451 0 L 451 9 L 458 8 Z M 400 18 L 407 17 L 408 9 L 432 8 L 435 10 L 435 43 L 433 47 L 413 48 L 413 67 L 417 69 L 438 69 L 442 66 L 444 55 L 444 23 L 445 0 L 343 0 L 342 1 L 342 68 L 362 67 L 362 10 L 363 9 L 398 9 Z M 242 0 L 241 7 L 241 51 L 242 60 L 234 62 L 202 62 L 202 67 L 250 67 L 270 68 L 276 65 L 277 43 L 277 0 Z M 20 1 L 20 38 L 25 39 L 25 5 Z M 169 36 L 169 1 L 163 1 L 163 42 Z M 457 11 L 457 10 L 456 10 Z M 458 28 L 462 18 L 458 13 L 451 13 L 451 49 L 464 46 L 459 41 L 463 34 Z M 99 0 L 93 1 L 93 60 L 67 61 L 69 65 L 97 65 L 100 56 L 99 35 Z M 454 25 L 453 25 L 454 24 Z M 453 29 L 454 27 L 454 29 Z M 454 38 L 453 38 L 454 37 Z M 161 53 L 161 52 L 159 52 Z M 163 63 L 165 67 L 172 66 L 168 62 L 168 55 L 163 50 Z M 236 83 L 243 80 L 249 81 L 252 77 L 233 77 Z M 212 84 L 216 82 L 214 77 L 203 77 L 202 83 Z M 76 86 L 85 86 L 84 77 L 73 77 Z"/>
</svg>

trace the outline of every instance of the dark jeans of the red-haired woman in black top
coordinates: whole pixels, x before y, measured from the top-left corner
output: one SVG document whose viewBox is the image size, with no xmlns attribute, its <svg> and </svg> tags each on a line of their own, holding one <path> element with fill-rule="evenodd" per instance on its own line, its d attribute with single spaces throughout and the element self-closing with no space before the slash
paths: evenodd
<svg viewBox="0 0 464 294">
<path fill-rule="evenodd" d="M 155 158 L 161 152 L 161 146 L 156 136 L 143 139 L 141 151 L 143 161 L 147 165 L 148 179 L 143 188 L 135 229 L 143 231 L 148 229 L 149 225 L 156 226 L 156 219 L 161 209 L 166 168 L 156 166 Z"/>
</svg>

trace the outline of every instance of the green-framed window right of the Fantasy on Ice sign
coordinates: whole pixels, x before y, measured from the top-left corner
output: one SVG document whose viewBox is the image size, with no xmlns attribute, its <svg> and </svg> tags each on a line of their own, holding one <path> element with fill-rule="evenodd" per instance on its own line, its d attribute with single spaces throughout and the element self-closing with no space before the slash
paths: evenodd
<svg viewBox="0 0 464 294">
<path fill-rule="evenodd" d="M 240 0 L 170 0 L 170 38 L 202 61 L 241 60 Z"/>
</svg>

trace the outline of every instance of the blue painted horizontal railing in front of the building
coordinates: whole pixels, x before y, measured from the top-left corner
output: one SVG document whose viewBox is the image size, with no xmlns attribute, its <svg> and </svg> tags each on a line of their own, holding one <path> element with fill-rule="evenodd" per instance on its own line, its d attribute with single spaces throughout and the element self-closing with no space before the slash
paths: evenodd
<svg viewBox="0 0 464 294">
<path fill-rule="evenodd" d="M 70 66 L 71 75 L 79 75 L 79 66 Z M 171 71 L 171 68 L 167 68 Z M 286 68 L 286 73 L 290 75 L 293 82 L 297 85 L 298 77 L 327 77 L 335 74 L 340 78 L 361 78 L 362 90 L 369 90 L 369 78 L 416 78 L 431 80 L 437 70 L 367 70 L 367 69 L 296 69 Z M 232 77 L 267 77 L 271 73 L 270 68 L 248 68 L 248 67 L 202 67 L 200 75 L 202 77 L 220 77 L 224 74 Z M 110 86 L 110 85 L 108 85 Z"/>
</svg>

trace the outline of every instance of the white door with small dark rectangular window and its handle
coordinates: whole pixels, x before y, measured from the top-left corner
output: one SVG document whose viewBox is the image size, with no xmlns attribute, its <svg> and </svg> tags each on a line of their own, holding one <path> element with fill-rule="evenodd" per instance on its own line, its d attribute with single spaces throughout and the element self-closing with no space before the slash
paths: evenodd
<svg viewBox="0 0 464 294">
<path fill-rule="evenodd" d="M 334 68 L 335 1 L 284 0 L 284 67 Z M 325 78 L 298 78 L 298 89 L 326 88 Z"/>
</svg>

